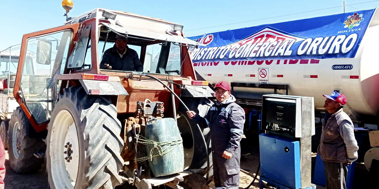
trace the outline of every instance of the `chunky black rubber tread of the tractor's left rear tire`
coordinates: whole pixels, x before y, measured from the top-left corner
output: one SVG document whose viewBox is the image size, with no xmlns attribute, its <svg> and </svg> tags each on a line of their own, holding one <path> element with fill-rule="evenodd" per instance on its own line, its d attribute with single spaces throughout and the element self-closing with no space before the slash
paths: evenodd
<svg viewBox="0 0 379 189">
<path fill-rule="evenodd" d="M 117 119 L 117 109 L 111 104 L 111 99 L 108 96 L 87 95 L 83 87 L 77 86 L 65 88 L 60 98 L 67 98 L 74 104 L 83 130 L 86 151 L 83 179 L 86 182 L 79 188 L 113 189 L 120 185 L 122 180 L 118 171 L 124 164 L 121 158 L 124 144 L 120 143 L 123 141 L 121 136 L 115 134 L 121 133 L 121 122 Z M 58 104 L 55 109 L 59 110 Z M 118 145 L 111 149 L 107 144 Z M 110 172 L 106 167 L 114 169 Z"/>
</svg>

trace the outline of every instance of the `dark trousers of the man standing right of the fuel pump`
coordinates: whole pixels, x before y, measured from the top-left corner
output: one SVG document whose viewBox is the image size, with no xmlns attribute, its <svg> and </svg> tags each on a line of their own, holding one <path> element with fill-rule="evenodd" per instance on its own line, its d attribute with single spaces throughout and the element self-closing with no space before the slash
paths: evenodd
<svg viewBox="0 0 379 189">
<path fill-rule="evenodd" d="M 325 189 L 346 189 L 348 164 L 324 161 L 326 186 Z"/>
</svg>

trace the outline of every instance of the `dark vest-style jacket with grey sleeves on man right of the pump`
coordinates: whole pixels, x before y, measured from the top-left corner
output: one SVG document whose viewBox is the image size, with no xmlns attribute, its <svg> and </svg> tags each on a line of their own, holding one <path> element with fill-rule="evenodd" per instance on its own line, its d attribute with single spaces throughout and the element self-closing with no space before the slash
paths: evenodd
<svg viewBox="0 0 379 189">
<path fill-rule="evenodd" d="M 324 161 L 353 162 L 358 158 L 358 145 L 354 125 L 341 108 L 336 113 L 325 114 L 318 154 Z"/>
</svg>

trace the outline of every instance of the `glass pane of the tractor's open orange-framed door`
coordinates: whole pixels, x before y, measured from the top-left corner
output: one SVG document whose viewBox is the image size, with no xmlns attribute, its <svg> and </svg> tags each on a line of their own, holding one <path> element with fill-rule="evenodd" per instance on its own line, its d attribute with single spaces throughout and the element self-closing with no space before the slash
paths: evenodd
<svg viewBox="0 0 379 189">
<path fill-rule="evenodd" d="M 52 102 L 56 101 L 60 88 L 55 78 L 64 72 L 71 38 L 72 31 L 64 30 L 27 41 L 19 85 L 21 96 L 37 124 L 50 119 Z"/>
</svg>

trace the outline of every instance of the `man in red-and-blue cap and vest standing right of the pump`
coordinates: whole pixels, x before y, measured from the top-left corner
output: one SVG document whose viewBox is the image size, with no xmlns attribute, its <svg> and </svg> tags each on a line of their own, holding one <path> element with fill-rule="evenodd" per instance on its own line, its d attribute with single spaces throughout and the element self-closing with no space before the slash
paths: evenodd
<svg viewBox="0 0 379 189">
<path fill-rule="evenodd" d="M 345 95 L 333 92 L 323 96 L 327 112 L 317 153 L 324 161 L 326 189 L 346 189 L 347 166 L 358 159 L 354 125 L 343 112 L 347 103 Z"/>
</svg>

